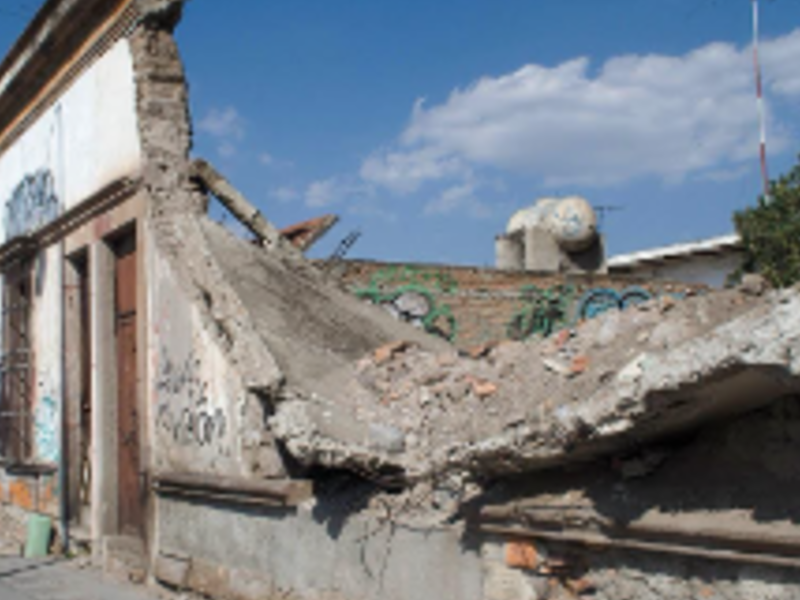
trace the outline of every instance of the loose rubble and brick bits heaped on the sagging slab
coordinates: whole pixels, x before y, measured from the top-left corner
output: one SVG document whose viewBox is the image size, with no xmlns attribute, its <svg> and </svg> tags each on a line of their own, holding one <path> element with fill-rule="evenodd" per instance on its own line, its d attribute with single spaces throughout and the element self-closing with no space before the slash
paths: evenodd
<svg viewBox="0 0 800 600">
<path fill-rule="evenodd" d="M 347 415 L 363 426 L 361 438 L 317 432 L 302 443 L 286 435 L 284 441 L 306 464 L 376 477 L 397 471 L 410 485 L 520 472 L 539 449 L 569 452 L 588 437 L 591 432 L 576 425 L 576 410 L 591 404 L 605 384 L 638 377 L 633 371 L 648 366 L 637 357 L 658 361 L 660 353 L 702 339 L 740 315 L 766 315 L 777 301 L 776 294 L 749 289 L 663 297 L 548 339 L 461 354 L 397 342 L 349 367 L 338 380 L 345 383 L 322 399 L 325 414 Z M 295 408 L 305 410 L 308 400 L 296 399 Z M 298 423 L 295 432 L 303 429 Z M 281 437 L 280 425 L 277 430 Z"/>
</svg>

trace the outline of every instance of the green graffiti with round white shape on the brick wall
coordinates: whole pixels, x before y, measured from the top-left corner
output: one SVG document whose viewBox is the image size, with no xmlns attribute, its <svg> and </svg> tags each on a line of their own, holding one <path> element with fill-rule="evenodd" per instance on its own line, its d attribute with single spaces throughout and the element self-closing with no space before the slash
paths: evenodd
<svg viewBox="0 0 800 600">
<path fill-rule="evenodd" d="M 441 271 L 398 266 L 376 272 L 369 285 L 355 290 L 355 294 L 401 321 L 452 342 L 458 333 L 457 322 L 452 308 L 442 303 L 440 296 L 457 287 L 456 280 Z"/>
</svg>

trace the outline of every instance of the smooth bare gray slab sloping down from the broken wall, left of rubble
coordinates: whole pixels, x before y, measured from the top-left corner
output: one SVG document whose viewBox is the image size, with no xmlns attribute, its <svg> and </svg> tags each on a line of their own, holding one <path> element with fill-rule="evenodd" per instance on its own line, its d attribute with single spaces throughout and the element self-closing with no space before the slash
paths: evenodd
<svg viewBox="0 0 800 600">
<path fill-rule="evenodd" d="M 398 339 L 430 350 L 449 347 L 337 289 L 299 255 L 266 253 L 210 219 L 201 219 L 199 225 L 203 247 L 252 319 L 253 332 L 275 358 L 290 390 L 327 395 L 340 385 L 340 371 Z"/>
</svg>

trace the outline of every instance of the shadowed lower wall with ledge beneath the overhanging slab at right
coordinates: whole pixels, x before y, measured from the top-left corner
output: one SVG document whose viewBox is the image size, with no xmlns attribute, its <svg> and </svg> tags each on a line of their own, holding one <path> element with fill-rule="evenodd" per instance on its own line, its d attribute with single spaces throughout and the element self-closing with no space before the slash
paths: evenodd
<svg viewBox="0 0 800 600">
<path fill-rule="evenodd" d="M 796 598 L 799 442 L 800 404 L 785 398 L 580 469 L 505 478 L 466 512 L 486 566 L 523 587 L 555 574 L 602 600 Z"/>
</svg>

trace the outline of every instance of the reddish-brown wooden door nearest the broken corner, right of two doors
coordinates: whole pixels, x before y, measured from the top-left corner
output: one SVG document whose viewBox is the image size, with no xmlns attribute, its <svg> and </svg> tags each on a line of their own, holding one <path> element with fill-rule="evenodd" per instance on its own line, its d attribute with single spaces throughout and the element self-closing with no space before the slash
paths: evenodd
<svg viewBox="0 0 800 600">
<path fill-rule="evenodd" d="M 142 536 L 144 493 L 140 473 L 139 403 L 136 348 L 136 236 L 116 244 L 115 330 L 117 336 L 119 530 Z"/>
</svg>

